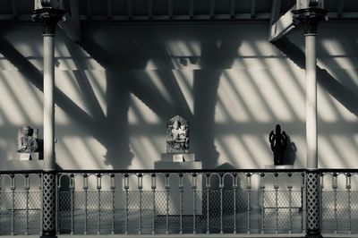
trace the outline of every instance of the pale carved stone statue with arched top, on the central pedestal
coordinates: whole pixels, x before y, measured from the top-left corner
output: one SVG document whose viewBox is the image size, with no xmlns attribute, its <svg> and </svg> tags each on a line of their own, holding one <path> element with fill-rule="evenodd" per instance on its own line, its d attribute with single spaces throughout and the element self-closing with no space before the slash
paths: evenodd
<svg viewBox="0 0 358 238">
<path fill-rule="evenodd" d="M 166 153 L 189 150 L 189 123 L 182 116 L 175 115 L 166 124 Z"/>
</svg>

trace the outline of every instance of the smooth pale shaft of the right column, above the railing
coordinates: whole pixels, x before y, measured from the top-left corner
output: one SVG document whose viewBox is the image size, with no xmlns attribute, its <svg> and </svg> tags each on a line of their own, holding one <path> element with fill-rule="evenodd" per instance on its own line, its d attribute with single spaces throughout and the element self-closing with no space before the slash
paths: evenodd
<svg viewBox="0 0 358 238">
<path fill-rule="evenodd" d="M 316 37 L 308 33 L 305 37 L 306 57 L 306 143 L 307 168 L 318 168 L 317 135 L 317 78 L 316 78 Z"/>
</svg>

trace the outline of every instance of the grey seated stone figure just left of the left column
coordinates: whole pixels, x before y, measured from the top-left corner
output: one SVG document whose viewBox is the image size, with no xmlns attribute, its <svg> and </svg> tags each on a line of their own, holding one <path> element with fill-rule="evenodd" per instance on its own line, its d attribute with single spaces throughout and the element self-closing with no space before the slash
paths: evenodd
<svg viewBox="0 0 358 238">
<path fill-rule="evenodd" d="M 29 125 L 22 126 L 21 136 L 19 140 L 19 147 L 17 152 L 20 153 L 34 153 L 38 152 L 38 139 L 34 135 L 34 130 Z"/>
</svg>

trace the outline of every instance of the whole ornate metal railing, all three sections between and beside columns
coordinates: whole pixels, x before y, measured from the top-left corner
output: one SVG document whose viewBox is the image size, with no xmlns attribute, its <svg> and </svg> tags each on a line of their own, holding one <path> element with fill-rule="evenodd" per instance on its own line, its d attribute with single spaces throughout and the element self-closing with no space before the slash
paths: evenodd
<svg viewBox="0 0 358 238">
<path fill-rule="evenodd" d="M 324 233 L 358 232 L 354 170 L 320 170 Z M 1 172 L 0 234 L 40 234 L 41 171 Z M 305 170 L 59 171 L 57 234 L 305 234 Z"/>
</svg>

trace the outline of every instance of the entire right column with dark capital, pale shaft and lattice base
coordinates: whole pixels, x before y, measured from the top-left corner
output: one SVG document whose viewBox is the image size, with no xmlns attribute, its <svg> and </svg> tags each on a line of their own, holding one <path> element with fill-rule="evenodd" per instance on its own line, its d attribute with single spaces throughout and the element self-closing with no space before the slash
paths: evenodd
<svg viewBox="0 0 358 238">
<path fill-rule="evenodd" d="M 293 11 L 294 23 L 303 24 L 306 60 L 306 145 L 307 145 L 307 234 L 306 237 L 322 237 L 320 234 L 320 176 L 318 171 L 317 136 L 317 76 L 316 38 L 317 28 L 327 10 L 306 8 Z"/>
</svg>

